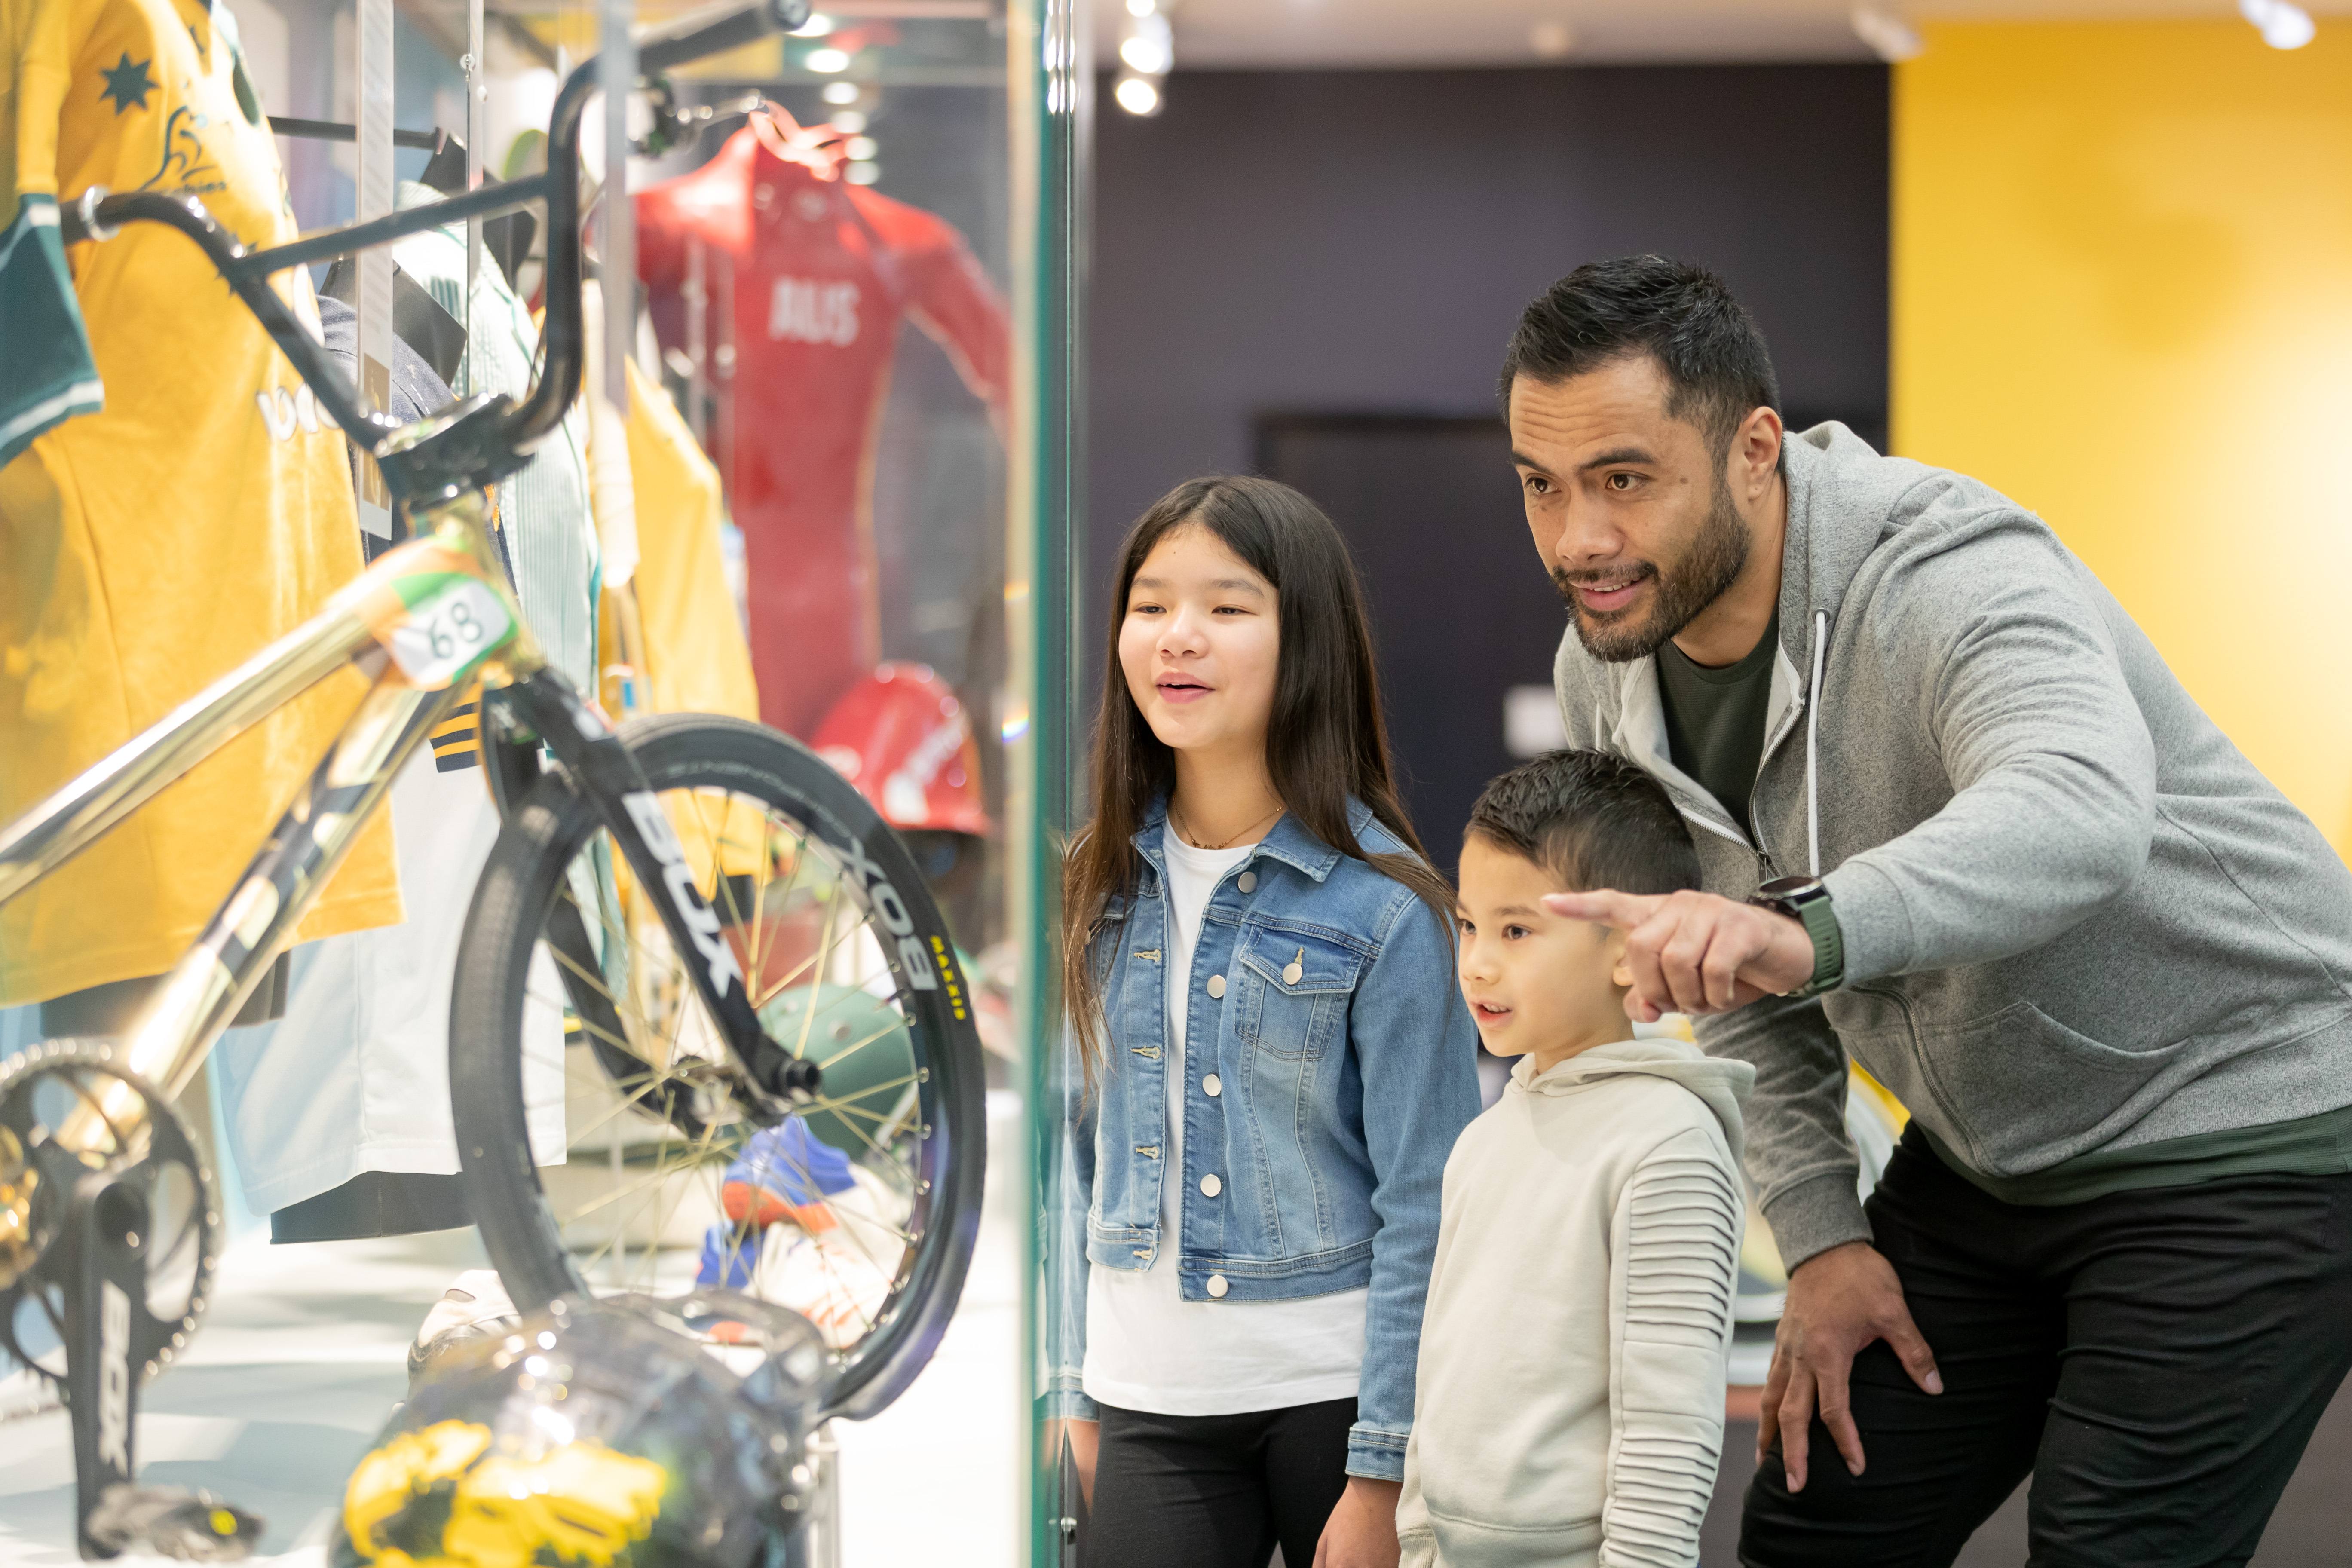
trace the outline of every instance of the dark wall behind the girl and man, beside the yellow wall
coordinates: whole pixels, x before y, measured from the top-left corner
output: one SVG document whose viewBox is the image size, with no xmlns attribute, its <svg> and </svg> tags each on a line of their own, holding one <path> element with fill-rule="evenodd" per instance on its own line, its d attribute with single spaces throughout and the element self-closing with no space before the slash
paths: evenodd
<svg viewBox="0 0 2352 1568">
<path fill-rule="evenodd" d="M 1089 651 L 1112 548 L 1167 487 L 1272 461 L 1270 414 L 1491 416 L 1519 308 L 1595 256 L 1705 261 L 1762 322 L 1795 421 L 1884 425 L 1879 66 L 1181 71 L 1157 120 L 1120 113 L 1103 87 Z M 1385 628 L 1406 771 L 1468 780 L 1501 762 L 1494 691 L 1548 679 L 1531 654 L 1562 611 L 1508 473 L 1470 494 L 1461 444 L 1428 451 L 1442 454 L 1428 475 L 1317 498 L 1355 538 Z M 1430 498 L 1456 489 L 1435 515 Z M 1446 571 L 1416 574 L 1432 548 Z M 1451 712 L 1449 691 L 1463 698 Z M 1421 811 L 1446 860 L 1461 790 Z"/>
</svg>

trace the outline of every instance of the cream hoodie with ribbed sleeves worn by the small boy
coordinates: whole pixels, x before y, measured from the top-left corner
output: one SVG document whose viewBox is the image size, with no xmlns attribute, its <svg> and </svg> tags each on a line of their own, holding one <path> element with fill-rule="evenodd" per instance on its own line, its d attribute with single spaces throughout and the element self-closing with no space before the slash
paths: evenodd
<svg viewBox="0 0 2352 1568">
<path fill-rule="evenodd" d="M 1748 1063 L 1628 1039 L 1446 1161 L 1397 1533 L 1406 1568 L 1696 1563 L 1724 1439 Z"/>
</svg>

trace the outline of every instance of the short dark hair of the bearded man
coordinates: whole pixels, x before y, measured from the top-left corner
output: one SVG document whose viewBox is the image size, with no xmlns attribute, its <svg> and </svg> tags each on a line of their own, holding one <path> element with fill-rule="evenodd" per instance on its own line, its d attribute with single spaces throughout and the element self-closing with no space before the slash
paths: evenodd
<svg viewBox="0 0 2352 1568">
<path fill-rule="evenodd" d="M 1519 313 L 1503 350 L 1503 418 L 1519 376 L 1566 381 L 1649 355 L 1665 371 L 1665 411 L 1729 449 L 1752 409 L 1780 409 L 1780 378 L 1755 320 L 1724 280 L 1689 261 L 1588 261 Z"/>
</svg>

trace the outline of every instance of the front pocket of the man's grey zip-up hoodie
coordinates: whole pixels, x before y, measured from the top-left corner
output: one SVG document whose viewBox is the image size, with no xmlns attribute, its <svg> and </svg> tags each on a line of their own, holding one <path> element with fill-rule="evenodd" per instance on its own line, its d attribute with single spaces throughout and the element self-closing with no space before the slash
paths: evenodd
<svg viewBox="0 0 2352 1568">
<path fill-rule="evenodd" d="M 1922 1027 L 1919 1065 L 1992 1173 L 2009 1175 L 2051 1143 L 2114 1117 L 2192 1044 L 2124 1051 L 2013 1001 L 1985 1018 Z"/>
</svg>

